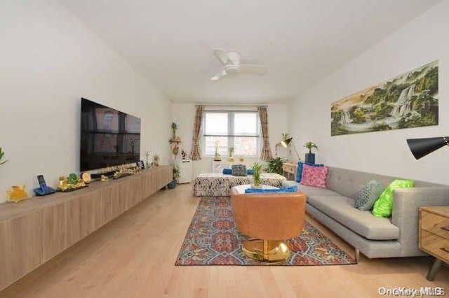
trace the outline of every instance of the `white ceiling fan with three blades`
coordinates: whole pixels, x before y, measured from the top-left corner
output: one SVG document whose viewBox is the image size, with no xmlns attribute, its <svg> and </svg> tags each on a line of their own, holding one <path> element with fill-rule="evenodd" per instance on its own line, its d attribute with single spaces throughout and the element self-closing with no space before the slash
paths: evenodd
<svg viewBox="0 0 449 298">
<path fill-rule="evenodd" d="M 236 51 L 225 51 L 222 49 L 213 49 L 213 55 L 223 64 L 220 73 L 210 78 L 210 80 L 220 80 L 220 78 L 237 73 L 248 73 L 255 75 L 264 75 L 268 67 L 264 65 L 240 64 L 240 53 Z"/>
</svg>

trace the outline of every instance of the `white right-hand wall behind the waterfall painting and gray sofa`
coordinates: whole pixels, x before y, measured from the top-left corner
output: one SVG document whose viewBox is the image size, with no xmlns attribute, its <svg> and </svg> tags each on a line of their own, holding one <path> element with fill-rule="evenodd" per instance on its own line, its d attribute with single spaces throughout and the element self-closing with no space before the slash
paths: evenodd
<svg viewBox="0 0 449 298">
<path fill-rule="evenodd" d="M 301 144 L 318 143 L 317 162 L 449 184 L 449 150 L 415 160 L 406 139 L 449 135 L 449 1 L 441 1 L 292 102 L 289 127 Z M 331 53 L 330 53 L 331 54 Z M 439 60 L 439 125 L 330 136 L 330 104 Z M 305 149 L 302 148 L 302 155 Z"/>
</svg>

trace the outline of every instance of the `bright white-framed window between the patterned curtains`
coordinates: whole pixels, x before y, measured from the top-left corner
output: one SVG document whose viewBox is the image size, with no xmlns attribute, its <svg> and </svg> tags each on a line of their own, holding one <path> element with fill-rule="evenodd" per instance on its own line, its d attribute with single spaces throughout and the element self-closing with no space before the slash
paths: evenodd
<svg viewBox="0 0 449 298">
<path fill-rule="evenodd" d="M 229 155 L 234 147 L 234 155 L 259 155 L 259 113 L 253 111 L 206 111 L 203 125 L 204 155 L 218 153 Z"/>
</svg>

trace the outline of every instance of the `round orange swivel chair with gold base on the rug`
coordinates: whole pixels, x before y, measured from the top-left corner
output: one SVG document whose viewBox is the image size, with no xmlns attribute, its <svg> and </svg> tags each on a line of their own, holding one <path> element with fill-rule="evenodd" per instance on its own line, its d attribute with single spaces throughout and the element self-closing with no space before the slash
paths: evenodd
<svg viewBox="0 0 449 298">
<path fill-rule="evenodd" d="M 251 238 L 243 253 L 261 262 L 283 262 L 290 256 L 286 239 L 304 228 L 306 196 L 302 192 L 239 194 L 232 190 L 236 227 Z"/>
</svg>

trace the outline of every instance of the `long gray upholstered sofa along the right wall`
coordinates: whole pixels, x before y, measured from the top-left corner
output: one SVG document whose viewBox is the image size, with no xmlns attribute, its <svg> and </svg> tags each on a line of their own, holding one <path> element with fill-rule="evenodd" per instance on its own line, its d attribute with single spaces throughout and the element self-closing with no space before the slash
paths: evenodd
<svg viewBox="0 0 449 298">
<path fill-rule="evenodd" d="M 418 208 L 449 205 L 449 186 L 415 180 L 413 188 L 394 189 L 391 218 L 376 218 L 370 211 L 354 208 L 354 195 L 369 180 L 385 187 L 396 179 L 361 171 L 329 167 L 327 188 L 298 185 L 307 194 L 306 210 L 323 225 L 366 257 L 425 255 L 418 248 Z"/>
</svg>

